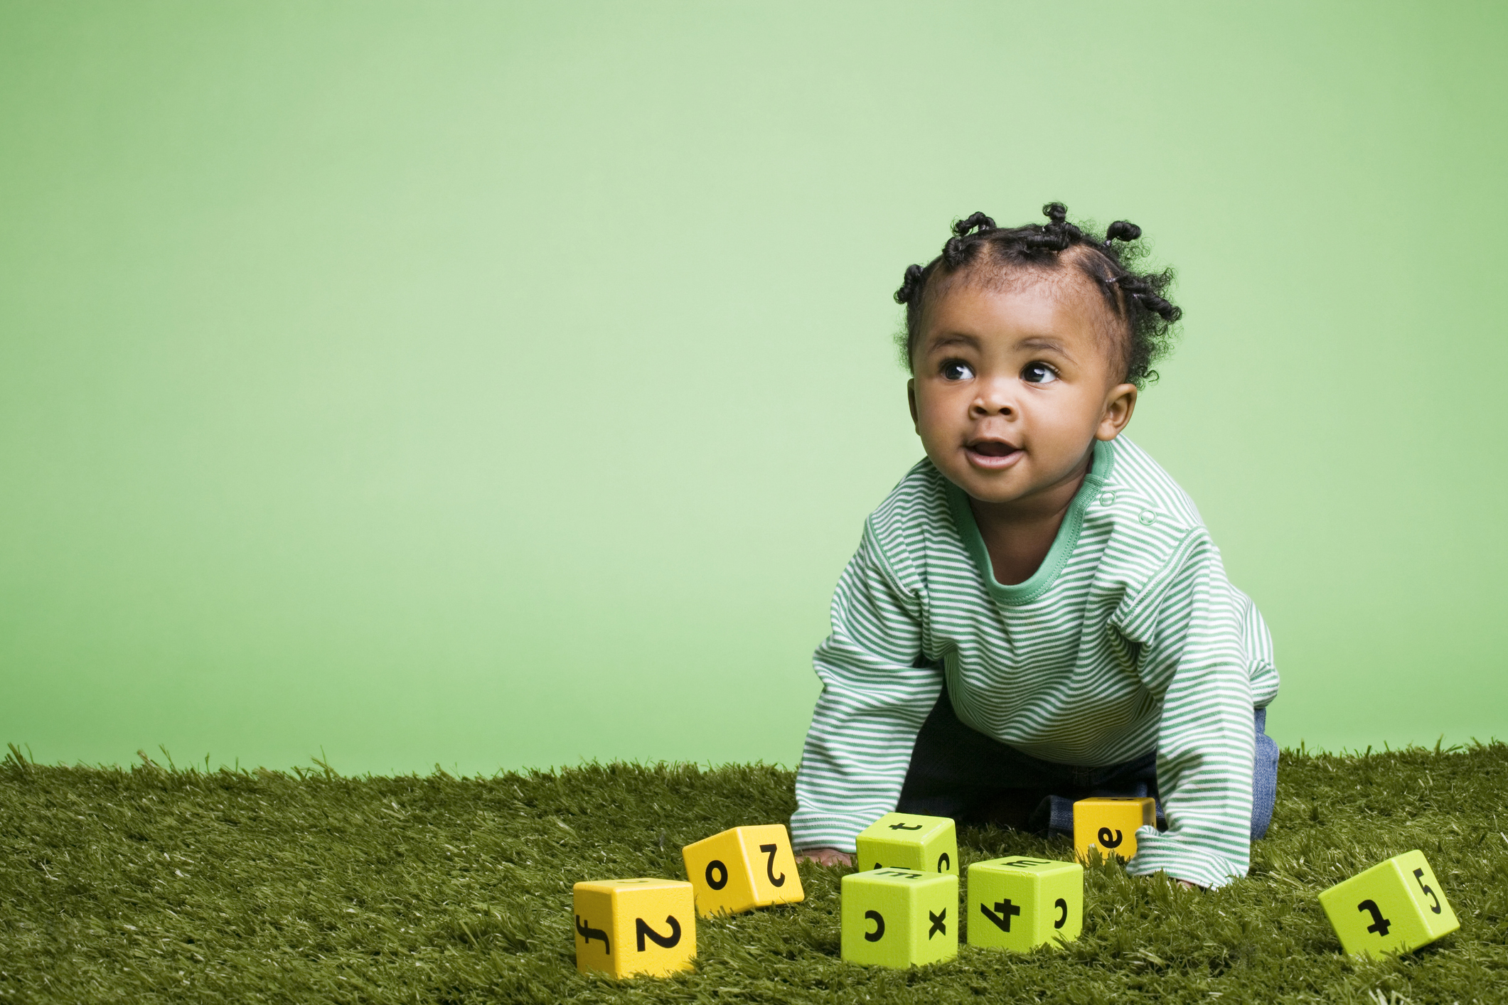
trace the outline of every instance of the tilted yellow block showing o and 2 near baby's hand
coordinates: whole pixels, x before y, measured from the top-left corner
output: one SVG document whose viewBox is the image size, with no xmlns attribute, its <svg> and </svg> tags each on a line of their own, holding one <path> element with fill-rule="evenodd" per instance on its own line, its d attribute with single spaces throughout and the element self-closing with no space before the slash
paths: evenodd
<svg viewBox="0 0 1508 1005">
<path fill-rule="evenodd" d="M 786 824 L 733 827 L 686 845 L 680 856 L 703 918 L 807 898 Z"/>
</svg>

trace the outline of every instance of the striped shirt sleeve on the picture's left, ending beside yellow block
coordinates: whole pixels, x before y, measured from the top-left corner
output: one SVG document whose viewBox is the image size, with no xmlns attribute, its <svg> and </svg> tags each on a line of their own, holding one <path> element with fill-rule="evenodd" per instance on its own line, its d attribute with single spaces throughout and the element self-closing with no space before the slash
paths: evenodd
<svg viewBox="0 0 1508 1005">
<path fill-rule="evenodd" d="M 796 848 L 854 851 L 896 809 L 917 732 L 942 690 L 921 654 L 920 591 L 908 591 L 866 527 L 832 595 L 832 631 L 813 658 L 822 695 L 796 773 Z"/>
</svg>

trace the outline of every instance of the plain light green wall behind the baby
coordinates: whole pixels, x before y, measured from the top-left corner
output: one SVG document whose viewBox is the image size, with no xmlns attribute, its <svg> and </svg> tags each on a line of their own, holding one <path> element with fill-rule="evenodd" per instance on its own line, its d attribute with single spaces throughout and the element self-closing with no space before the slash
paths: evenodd
<svg viewBox="0 0 1508 1005">
<path fill-rule="evenodd" d="M 1285 744 L 1508 735 L 1508 17 L 0 6 L 0 741 L 793 764 L 903 267 L 1131 218 Z"/>
</svg>

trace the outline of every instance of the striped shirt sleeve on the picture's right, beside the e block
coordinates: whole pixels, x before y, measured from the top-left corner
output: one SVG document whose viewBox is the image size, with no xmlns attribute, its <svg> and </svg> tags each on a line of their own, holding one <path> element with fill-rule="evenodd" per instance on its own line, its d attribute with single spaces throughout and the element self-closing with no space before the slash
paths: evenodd
<svg viewBox="0 0 1508 1005">
<path fill-rule="evenodd" d="M 1126 871 L 1223 886 L 1252 859 L 1252 604 L 1202 530 L 1160 579 L 1122 630 L 1143 643 L 1142 680 L 1163 702 L 1157 784 L 1167 830 L 1139 829 Z M 1265 625 L 1261 633 L 1270 652 Z"/>
</svg>

